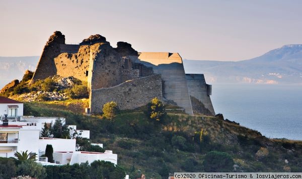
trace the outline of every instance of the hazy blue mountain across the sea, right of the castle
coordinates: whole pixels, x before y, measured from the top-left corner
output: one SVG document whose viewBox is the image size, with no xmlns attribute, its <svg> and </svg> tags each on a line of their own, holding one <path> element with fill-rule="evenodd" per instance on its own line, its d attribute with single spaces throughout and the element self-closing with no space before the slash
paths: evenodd
<svg viewBox="0 0 302 179">
<path fill-rule="evenodd" d="M 186 73 L 204 73 L 209 83 L 302 83 L 302 45 L 285 45 L 238 62 L 184 60 Z"/>
</svg>

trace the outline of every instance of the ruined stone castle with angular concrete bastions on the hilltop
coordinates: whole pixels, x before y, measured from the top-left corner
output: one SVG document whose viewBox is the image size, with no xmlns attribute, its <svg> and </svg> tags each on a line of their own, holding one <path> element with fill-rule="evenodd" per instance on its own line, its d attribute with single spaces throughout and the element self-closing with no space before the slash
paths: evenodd
<svg viewBox="0 0 302 179">
<path fill-rule="evenodd" d="M 56 31 L 43 49 L 32 82 L 53 75 L 87 82 L 91 113 L 101 112 L 110 101 L 120 109 L 134 109 L 158 97 L 190 115 L 215 115 L 211 85 L 203 74 L 185 74 L 178 53 L 138 53 L 126 42 L 113 48 L 101 35 L 69 45 Z"/>
</svg>

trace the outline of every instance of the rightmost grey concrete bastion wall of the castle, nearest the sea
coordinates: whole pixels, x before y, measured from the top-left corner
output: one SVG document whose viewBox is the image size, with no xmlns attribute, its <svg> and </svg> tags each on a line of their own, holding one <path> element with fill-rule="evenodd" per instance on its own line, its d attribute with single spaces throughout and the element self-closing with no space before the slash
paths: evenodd
<svg viewBox="0 0 302 179">
<path fill-rule="evenodd" d="M 187 86 L 190 96 L 194 96 L 196 99 L 204 104 L 212 115 L 215 115 L 215 111 L 212 105 L 210 96 L 207 94 L 207 85 L 205 83 L 203 74 L 186 74 Z"/>
</svg>

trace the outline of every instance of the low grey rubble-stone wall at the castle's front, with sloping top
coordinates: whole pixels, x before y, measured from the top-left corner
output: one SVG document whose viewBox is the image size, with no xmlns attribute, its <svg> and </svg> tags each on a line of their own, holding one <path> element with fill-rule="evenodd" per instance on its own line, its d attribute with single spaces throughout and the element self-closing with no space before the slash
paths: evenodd
<svg viewBox="0 0 302 179">
<path fill-rule="evenodd" d="M 114 101 L 120 109 L 135 109 L 154 97 L 162 99 L 161 75 L 138 78 L 111 88 L 91 90 L 90 108 L 92 113 L 99 113 L 105 103 Z"/>
</svg>

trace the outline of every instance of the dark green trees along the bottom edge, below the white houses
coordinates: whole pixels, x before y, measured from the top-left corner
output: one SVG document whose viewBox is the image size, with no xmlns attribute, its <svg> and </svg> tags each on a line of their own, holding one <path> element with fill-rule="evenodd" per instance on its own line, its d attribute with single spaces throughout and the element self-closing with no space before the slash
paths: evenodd
<svg viewBox="0 0 302 179">
<path fill-rule="evenodd" d="M 90 165 L 88 163 L 46 166 L 47 178 L 124 178 L 125 171 L 114 166 L 109 161 L 96 160 Z"/>
</svg>

